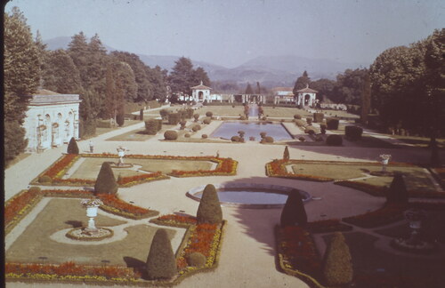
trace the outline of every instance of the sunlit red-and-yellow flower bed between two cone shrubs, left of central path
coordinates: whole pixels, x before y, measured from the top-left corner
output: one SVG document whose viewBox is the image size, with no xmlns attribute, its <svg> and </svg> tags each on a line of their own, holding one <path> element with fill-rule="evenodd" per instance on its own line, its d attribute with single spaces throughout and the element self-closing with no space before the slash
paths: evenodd
<svg viewBox="0 0 445 288">
<path fill-rule="evenodd" d="M 222 225 L 198 224 L 196 218 L 192 216 L 165 215 L 158 217 L 156 220 L 150 220 L 150 222 L 158 225 L 188 228 L 186 236 L 182 240 L 181 248 L 183 249 L 179 249 L 181 252 L 176 255 L 179 277 L 174 281 L 174 284 L 182 281 L 185 276 L 192 276 L 202 271 L 211 271 L 217 267 L 225 221 Z M 185 256 L 192 252 L 200 252 L 206 256 L 204 267 L 191 267 L 187 264 Z"/>
</svg>

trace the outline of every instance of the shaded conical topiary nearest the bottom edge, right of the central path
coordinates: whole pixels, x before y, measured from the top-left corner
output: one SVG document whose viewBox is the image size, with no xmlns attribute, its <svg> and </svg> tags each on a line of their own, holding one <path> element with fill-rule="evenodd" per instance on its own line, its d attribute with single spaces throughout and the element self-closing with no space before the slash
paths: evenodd
<svg viewBox="0 0 445 288">
<path fill-rule="evenodd" d="M 353 268 L 349 247 L 344 236 L 336 232 L 330 239 L 323 260 L 323 277 L 328 285 L 348 284 L 352 281 Z"/>
</svg>

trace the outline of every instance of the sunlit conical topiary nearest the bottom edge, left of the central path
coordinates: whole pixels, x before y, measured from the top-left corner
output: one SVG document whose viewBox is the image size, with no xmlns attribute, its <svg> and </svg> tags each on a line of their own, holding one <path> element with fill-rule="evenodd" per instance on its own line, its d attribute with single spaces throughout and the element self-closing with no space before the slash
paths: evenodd
<svg viewBox="0 0 445 288">
<path fill-rule="evenodd" d="M 145 264 L 149 279 L 170 279 L 178 273 L 170 239 L 165 229 L 158 229 L 151 241 Z"/>
</svg>

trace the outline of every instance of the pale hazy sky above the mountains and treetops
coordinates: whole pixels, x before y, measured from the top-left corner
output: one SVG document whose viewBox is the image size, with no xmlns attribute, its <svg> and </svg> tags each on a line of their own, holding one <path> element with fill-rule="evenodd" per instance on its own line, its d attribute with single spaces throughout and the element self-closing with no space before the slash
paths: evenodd
<svg viewBox="0 0 445 288">
<path fill-rule="evenodd" d="M 42 37 L 231 68 L 260 55 L 371 63 L 445 27 L 445 0 L 12 0 Z"/>
</svg>

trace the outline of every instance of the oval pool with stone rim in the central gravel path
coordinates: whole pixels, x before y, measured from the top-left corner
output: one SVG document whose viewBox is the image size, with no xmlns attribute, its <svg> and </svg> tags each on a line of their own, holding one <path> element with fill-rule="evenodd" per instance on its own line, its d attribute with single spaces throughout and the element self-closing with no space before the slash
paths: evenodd
<svg viewBox="0 0 445 288">
<path fill-rule="evenodd" d="M 214 185 L 222 206 L 241 208 L 280 208 L 286 204 L 287 194 L 295 189 L 278 185 L 254 183 L 229 183 Z M 200 201 L 206 185 L 192 188 L 186 196 Z M 312 199 L 309 193 L 297 189 L 303 197 L 303 202 Z"/>
</svg>

